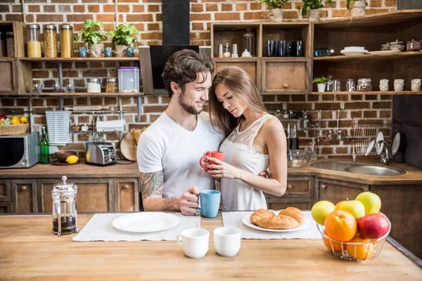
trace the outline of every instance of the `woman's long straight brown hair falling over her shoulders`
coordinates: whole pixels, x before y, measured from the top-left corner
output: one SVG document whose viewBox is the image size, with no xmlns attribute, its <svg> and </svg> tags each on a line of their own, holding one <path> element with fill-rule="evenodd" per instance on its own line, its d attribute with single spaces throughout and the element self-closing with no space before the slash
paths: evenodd
<svg viewBox="0 0 422 281">
<path fill-rule="evenodd" d="M 239 67 L 225 67 L 224 70 L 215 75 L 210 89 L 210 119 L 212 126 L 217 127 L 217 131 L 224 132 L 226 136 L 229 136 L 231 131 L 244 119 L 243 115 L 237 118 L 231 115 L 217 100 L 215 88 L 219 84 L 226 86 L 233 96 L 245 103 L 250 109 L 256 112 L 267 112 L 264 103 L 262 103 L 260 92 L 248 73 Z"/>
</svg>

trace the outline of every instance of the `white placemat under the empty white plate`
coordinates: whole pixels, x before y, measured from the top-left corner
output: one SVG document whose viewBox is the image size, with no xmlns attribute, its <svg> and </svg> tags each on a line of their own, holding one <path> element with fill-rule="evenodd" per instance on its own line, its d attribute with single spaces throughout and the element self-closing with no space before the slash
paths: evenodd
<svg viewBox="0 0 422 281">
<path fill-rule="evenodd" d="M 174 213 L 180 223 L 174 228 L 153 233 L 129 233 L 115 228 L 112 223 L 115 218 L 127 214 L 95 214 L 80 232 L 72 238 L 73 241 L 141 241 L 141 240 L 176 240 L 183 230 L 200 228 L 200 216 L 184 216 Z"/>
</svg>

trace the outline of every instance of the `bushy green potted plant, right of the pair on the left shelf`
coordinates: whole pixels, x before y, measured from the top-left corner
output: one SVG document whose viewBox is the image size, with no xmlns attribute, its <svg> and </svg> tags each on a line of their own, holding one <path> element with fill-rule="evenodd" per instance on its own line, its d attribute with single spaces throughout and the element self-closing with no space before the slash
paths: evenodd
<svg viewBox="0 0 422 281">
<path fill-rule="evenodd" d="M 115 27 L 115 30 L 110 30 L 108 35 L 113 39 L 115 44 L 115 53 L 116 57 L 123 57 L 126 55 L 126 48 L 134 44 L 135 47 L 138 46 L 136 38 L 132 34 L 138 34 L 139 32 L 134 25 L 129 23 L 124 23 Z"/>
</svg>

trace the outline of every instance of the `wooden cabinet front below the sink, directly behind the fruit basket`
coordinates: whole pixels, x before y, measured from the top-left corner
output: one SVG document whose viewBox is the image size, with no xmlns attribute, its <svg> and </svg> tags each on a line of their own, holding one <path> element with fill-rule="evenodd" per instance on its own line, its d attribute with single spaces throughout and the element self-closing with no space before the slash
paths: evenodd
<svg viewBox="0 0 422 281">
<path fill-rule="evenodd" d="M 354 200 L 359 193 L 369 191 L 369 185 L 338 181 L 329 178 L 316 178 L 318 197 L 316 201 L 327 200 L 337 204 L 340 201 Z"/>
</svg>

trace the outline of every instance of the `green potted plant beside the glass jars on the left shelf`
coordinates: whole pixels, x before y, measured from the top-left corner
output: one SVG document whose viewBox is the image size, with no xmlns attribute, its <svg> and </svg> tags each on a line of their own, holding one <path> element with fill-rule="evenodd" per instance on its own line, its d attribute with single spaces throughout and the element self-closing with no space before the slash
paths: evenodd
<svg viewBox="0 0 422 281">
<path fill-rule="evenodd" d="M 107 38 L 107 34 L 100 30 L 102 27 L 103 22 L 85 20 L 84 27 L 79 30 L 79 37 L 75 36 L 76 41 L 82 39 L 87 44 L 89 54 L 95 58 L 101 57 L 104 51 L 104 44 L 101 43 L 101 40 Z"/>
</svg>

